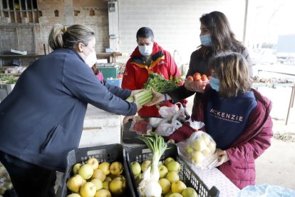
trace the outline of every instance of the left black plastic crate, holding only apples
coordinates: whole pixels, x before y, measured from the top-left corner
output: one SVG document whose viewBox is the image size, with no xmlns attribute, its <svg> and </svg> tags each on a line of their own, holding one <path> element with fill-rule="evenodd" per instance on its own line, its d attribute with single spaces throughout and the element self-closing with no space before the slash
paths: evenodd
<svg viewBox="0 0 295 197">
<path fill-rule="evenodd" d="M 66 196 L 71 193 L 66 186 L 66 182 L 68 178 L 73 176 L 73 165 L 76 163 L 85 163 L 88 158 L 95 157 L 98 161 L 104 162 L 114 162 L 120 161 L 123 164 L 123 176 L 125 176 L 126 180 L 126 190 L 123 197 L 133 197 L 135 196 L 135 192 L 133 189 L 133 184 L 130 178 L 130 173 L 128 170 L 128 166 L 125 160 L 125 152 L 123 151 L 123 146 L 119 143 L 103 145 L 103 146 L 93 146 L 87 148 L 78 148 L 68 153 L 68 165 L 66 167 L 66 172 L 63 176 L 63 185 L 61 186 L 61 191 L 59 191 L 57 196 Z"/>
</svg>

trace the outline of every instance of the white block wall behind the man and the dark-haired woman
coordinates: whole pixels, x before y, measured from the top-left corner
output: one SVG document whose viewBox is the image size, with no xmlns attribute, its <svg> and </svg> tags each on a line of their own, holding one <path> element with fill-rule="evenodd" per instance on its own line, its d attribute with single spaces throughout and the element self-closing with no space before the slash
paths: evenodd
<svg viewBox="0 0 295 197">
<path fill-rule="evenodd" d="M 190 54 L 200 45 L 202 14 L 222 11 L 242 41 L 245 7 L 246 0 L 118 0 L 120 51 L 131 54 L 137 46 L 136 32 L 148 26 L 160 46 L 172 55 L 177 50 L 182 64 L 188 63 Z"/>
</svg>

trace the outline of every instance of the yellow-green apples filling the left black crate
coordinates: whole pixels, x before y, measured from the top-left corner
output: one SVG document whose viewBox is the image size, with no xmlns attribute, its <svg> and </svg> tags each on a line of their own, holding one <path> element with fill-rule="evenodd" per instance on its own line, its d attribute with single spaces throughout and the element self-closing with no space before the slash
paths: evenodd
<svg viewBox="0 0 295 197">
<path fill-rule="evenodd" d="M 122 175 L 123 164 L 99 163 L 96 158 L 89 158 L 85 164 L 73 166 L 73 176 L 68 179 L 67 186 L 72 192 L 67 197 L 110 197 L 120 196 L 126 188 L 126 180 Z"/>
</svg>

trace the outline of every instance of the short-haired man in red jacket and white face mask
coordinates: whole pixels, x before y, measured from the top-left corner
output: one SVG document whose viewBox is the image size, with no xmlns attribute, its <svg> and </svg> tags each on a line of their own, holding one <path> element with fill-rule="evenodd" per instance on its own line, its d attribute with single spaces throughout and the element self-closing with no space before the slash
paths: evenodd
<svg viewBox="0 0 295 197">
<path fill-rule="evenodd" d="M 138 46 L 127 61 L 123 74 L 123 89 L 143 89 L 143 85 L 148 81 L 149 71 L 161 74 L 165 79 L 170 79 L 171 76 L 173 78 L 175 76 L 180 77 L 180 71 L 178 71 L 170 53 L 154 41 L 152 29 L 148 27 L 140 28 L 136 34 L 136 41 Z M 182 103 L 186 103 L 186 101 L 182 101 Z M 172 103 L 167 101 L 160 106 L 172 106 Z M 143 117 L 160 116 L 155 105 L 143 106 L 138 111 L 138 115 Z M 130 118 L 133 118 L 133 116 L 126 116 L 123 123 L 126 123 Z"/>
</svg>

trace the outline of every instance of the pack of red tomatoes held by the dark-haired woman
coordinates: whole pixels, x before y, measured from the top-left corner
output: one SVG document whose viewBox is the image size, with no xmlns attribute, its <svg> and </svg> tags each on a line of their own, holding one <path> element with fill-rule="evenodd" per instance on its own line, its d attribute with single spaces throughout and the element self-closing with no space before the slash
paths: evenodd
<svg viewBox="0 0 295 197">
<path fill-rule="evenodd" d="M 187 79 L 185 79 L 185 87 L 190 91 L 202 92 L 209 83 L 209 79 L 209 76 L 197 72 L 193 76 L 187 76 Z"/>
</svg>

